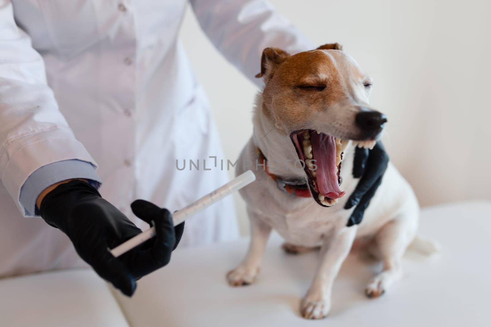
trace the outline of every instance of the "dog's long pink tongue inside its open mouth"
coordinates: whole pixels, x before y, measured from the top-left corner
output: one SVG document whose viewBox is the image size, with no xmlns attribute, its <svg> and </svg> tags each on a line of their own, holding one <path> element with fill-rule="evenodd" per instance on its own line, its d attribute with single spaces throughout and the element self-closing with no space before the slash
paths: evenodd
<svg viewBox="0 0 491 327">
<path fill-rule="evenodd" d="M 319 193 L 331 199 L 341 198 L 345 192 L 339 189 L 336 172 L 336 142 L 333 136 L 314 132 L 310 135 L 312 155 L 316 170 Z"/>
</svg>

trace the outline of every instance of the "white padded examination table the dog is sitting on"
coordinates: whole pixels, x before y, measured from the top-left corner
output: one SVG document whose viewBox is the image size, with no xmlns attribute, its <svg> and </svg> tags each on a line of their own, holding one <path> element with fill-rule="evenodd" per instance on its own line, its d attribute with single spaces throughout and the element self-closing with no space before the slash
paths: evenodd
<svg viewBox="0 0 491 327">
<path fill-rule="evenodd" d="M 299 316 L 316 252 L 285 254 L 274 234 L 256 282 L 245 287 L 229 287 L 225 274 L 243 258 L 247 239 L 176 250 L 167 267 L 138 281 L 131 299 L 90 270 L 0 279 L 0 326 L 491 326 L 491 202 L 426 208 L 420 225 L 441 253 L 406 253 L 403 279 L 373 300 L 363 291 L 380 266 L 350 255 L 324 320 Z"/>
</svg>

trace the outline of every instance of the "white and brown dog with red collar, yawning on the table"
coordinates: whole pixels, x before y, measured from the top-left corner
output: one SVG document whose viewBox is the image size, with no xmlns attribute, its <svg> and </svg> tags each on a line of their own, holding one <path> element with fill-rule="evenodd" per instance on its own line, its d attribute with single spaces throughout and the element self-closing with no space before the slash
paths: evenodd
<svg viewBox="0 0 491 327">
<path fill-rule="evenodd" d="M 322 246 L 317 272 L 301 302 L 303 317 L 327 315 L 334 278 L 355 240 L 383 260 L 383 271 L 365 290 L 369 297 L 382 295 L 401 276 L 401 258 L 415 239 L 419 206 L 408 182 L 389 163 L 363 221 L 347 227 L 352 210 L 344 209 L 348 196 L 343 196 L 358 181 L 352 176 L 354 149 L 348 144 L 352 140 L 352 145 L 373 147 L 386 122 L 368 105 L 371 79 L 338 44 L 295 55 L 267 48 L 256 77 L 263 77 L 266 86 L 256 99 L 254 132 L 237 174 L 257 158 L 259 165 L 264 158 L 268 165 L 266 171 L 259 166 L 256 182 L 241 190 L 251 242 L 246 258 L 227 274 L 228 282 L 238 286 L 254 280 L 274 228 L 291 252 Z M 308 188 L 299 185 L 305 183 Z M 278 185 L 286 185 L 291 194 Z M 301 197 L 305 192 L 308 198 Z"/>
</svg>

